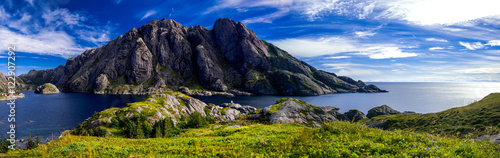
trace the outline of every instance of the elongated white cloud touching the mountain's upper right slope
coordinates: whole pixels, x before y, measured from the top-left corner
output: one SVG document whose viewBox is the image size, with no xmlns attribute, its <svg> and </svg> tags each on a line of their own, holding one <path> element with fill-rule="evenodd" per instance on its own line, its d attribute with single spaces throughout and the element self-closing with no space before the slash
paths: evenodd
<svg viewBox="0 0 500 158">
<path fill-rule="evenodd" d="M 270 41 L 274 45 L 287 50 L 290 54 L 299 57 L 313 57 L 333 55 L 341 52 L 359 51 L 357 41 L 340 37 L 320 39 L 290 38 Z"/>
</svg>

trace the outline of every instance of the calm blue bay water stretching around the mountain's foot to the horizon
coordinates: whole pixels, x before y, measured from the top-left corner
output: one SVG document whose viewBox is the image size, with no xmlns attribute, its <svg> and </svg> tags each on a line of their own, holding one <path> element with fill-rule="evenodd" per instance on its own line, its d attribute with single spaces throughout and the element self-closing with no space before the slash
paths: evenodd
<svg viewBox="0 0 500 158">
<path fill-rule="evenodd" d="M 439 112 L 465 106 L 493 92 L 500 92 L 497 82 L 437 83 L 437 82 L 375 82 L 388 93 L 341 93 L 321 96 L 195 96 L 206 103 L 235 102 L 263 108 L 276 100 L 293 97 L 316 106 L 335 106 L 340 112 L 358 109 L 365 114 L 369 109 L 389 105 L 399 111 L 418 113 Z M 110 107 L 123 107 L 126 103 L 142 101 L 145 96 L 98 95 L 84 93 L 58 93 L 49 95 L 23 91 L 26 98 L 16 100 L 16 136 L 29 134 L 42 138 L 58 137 L 64 130 L 74 129 L 94 112 Z M 6 135 L 10 123 L 7 101 L 0 102 L 0 136 Z M 33 121 L 33 122 L 29 122 Z"/>
</svg>

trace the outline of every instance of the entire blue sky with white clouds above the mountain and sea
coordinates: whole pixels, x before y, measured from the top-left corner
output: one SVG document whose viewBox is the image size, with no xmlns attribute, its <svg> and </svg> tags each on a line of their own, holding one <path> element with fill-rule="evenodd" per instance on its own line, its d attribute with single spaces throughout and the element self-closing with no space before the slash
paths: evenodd
<svg viewBox="0 0 500 158">
<path fill-rule="evenodd" d="M 241 21 L 318 69 L 364 81 L 500 81 L 495 0 L 4 0 L 0 60 L 17 73 L 65 64 L 150 20 Z M 6 62 L 0 71 L 7 72 Z"/>
</svg>

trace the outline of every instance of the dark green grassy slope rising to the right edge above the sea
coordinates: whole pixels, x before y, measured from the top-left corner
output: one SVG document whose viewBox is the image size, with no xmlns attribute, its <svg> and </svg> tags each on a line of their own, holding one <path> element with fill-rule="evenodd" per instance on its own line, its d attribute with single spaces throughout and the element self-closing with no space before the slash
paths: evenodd
<svg viewBox="0 0 500 158">
<path fill-rule="evenodd" d="M 500 133 L 500 93 L 492 93 L 470 105 L 432 114 L 384 115 L 362 120 L 382 122 L 384 129 L 405 129 L 432 134 L 476 138 Z"/>
</svg>

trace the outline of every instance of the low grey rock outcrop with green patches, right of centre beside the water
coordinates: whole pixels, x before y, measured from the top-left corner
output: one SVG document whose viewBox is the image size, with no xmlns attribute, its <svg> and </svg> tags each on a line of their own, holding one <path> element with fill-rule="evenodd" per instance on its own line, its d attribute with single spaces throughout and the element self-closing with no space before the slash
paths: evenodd
<svg viewBox="0 0 500 158">
<path fill-rule="evenodd" d="M 262 117 L 275 123 L 300 123 L 321 126 L 323 122 L 348 121 L 335 107 L 316 107 L 293 98 L 280 99 L 276 104 L 262 109 Z"/>
</svg>

